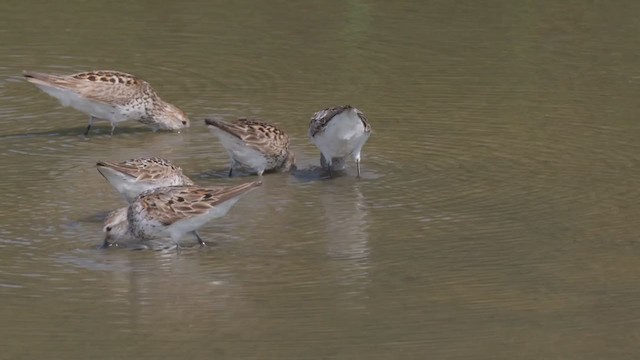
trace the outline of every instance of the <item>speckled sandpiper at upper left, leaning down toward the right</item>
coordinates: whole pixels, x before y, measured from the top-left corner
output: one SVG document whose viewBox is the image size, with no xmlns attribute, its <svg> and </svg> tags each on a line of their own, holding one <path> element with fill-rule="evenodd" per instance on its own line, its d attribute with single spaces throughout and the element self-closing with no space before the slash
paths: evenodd
<svg viewBox="0 0 640 360">
<path fill-rule="evenodd" d="M 24 77 L 63 106 L 88 114 L 85 136 L 93 120 L 98 119 L 111 123 L 111 135 L 116 124 L 127 120 L 137 120 L 154 131 L 189 127 L 189 118 L 182 110 L 160 99 L 149 83 L 130 74 L 110 70 L 72 75 L 25 71 Z"/>
</svg>

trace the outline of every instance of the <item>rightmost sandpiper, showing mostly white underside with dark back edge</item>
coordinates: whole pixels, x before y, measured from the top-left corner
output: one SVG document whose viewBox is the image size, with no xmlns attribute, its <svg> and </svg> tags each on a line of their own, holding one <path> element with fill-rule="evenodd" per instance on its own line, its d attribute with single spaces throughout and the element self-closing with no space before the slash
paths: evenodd
<svg viewBox="0 0 640 360">
<path fill-rule="evenodd" d="M 342 166 L 347 156 L 356 161 L 360 177 L 360 152 L 371 135 L 364 114 L 350 106 L 337 106 L 313 114 L 309 124 L 311 142 L 320 149 L 320 163 L 331 174 L 332 165 Z"/>
</svg>

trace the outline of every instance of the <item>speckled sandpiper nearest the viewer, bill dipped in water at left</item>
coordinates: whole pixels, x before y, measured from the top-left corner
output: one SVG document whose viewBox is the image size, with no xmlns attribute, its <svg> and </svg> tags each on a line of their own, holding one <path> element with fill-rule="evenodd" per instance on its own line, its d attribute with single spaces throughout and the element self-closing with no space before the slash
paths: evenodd
<svg viewBox="0 0 640 360">
<path fill-rule="evenodd" d="M 112 213 L 114 225 L 105 223 L 104 246 L 170 238 L 179 249 L 180 239 L 186 234 L 204 244 L 196 231 L 224 216 L 242 195 L 260 185 L 261 181 L 254 181 L 235 186 L 171 186 L 146 191 L 129 205 L 126 221 L 122 221 L 122 210 Z"/>
</svg>

